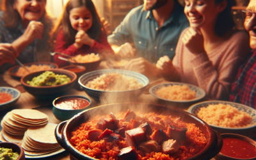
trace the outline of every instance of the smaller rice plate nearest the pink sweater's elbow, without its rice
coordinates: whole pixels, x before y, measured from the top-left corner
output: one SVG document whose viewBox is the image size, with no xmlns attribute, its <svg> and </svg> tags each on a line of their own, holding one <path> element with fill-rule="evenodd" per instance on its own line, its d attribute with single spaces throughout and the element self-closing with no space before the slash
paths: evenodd
<svg viewBox="0 0 256 160">
<path fill-rule="evenodd" d="M 196 97 L 195 99 L 190 99 L 190 100 L 172 100 L 172 99 L 164 99 L 163 97 L 159 97 L 156 95 L 157 90 L 160 90 L 163 87 L 168 87 L 168 86 L 174 86 L 174 85 L 179 85 L 183 86 L 186 85 L 188 88 L 194 92 L 196 92 Z M 199 88 L 198 86 L 194 86 L 192 84 L 186 84 L 186 83 L 162 83 L 162 84 L 157 84 L 156 86 L 152 86 L 149 89 L 149 93 L 156 97 L 157 99 L 164 100 L 166 102 L 195 102 L 197 100 L 203 99 L 205 97 L 205 91 L 202 88 Z"/>
</svg>

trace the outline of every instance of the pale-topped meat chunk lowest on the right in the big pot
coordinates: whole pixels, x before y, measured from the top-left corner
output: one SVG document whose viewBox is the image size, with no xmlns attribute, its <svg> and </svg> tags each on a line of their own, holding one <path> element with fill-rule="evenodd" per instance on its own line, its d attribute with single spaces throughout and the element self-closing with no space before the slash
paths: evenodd
<svg viewBox="0 0 256 160">
<path fill-rule="evenodd" d="M 162 150 L 164 154 L 173 154 L 175 152 L 178 152 L 179 148 L 180 145 L 176 140 L 164 141 L 162 145 Z"/>
</svg>

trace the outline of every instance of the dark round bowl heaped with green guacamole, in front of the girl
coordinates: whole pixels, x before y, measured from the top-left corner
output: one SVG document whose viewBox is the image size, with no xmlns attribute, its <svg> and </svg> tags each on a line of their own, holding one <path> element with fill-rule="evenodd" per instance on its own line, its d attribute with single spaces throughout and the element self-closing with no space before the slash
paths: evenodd
<svg viewBox="0 0 256 160">
<path fill-rule="evenodd" d="M 73 88 L 77 76 L 64 69 L 51 69 L 28 74 L 20 79 L 26 92 L 38 99 L 53 100 Z"/>
</svg>

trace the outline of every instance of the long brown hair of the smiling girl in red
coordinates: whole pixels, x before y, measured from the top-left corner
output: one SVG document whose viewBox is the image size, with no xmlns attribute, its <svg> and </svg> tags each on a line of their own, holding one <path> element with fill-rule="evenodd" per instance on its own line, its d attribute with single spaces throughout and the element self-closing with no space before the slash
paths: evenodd
<svg viewBox="0 0 256 160">
<path fill-rule="evenodd" d="M 93 20 L 92 27 L 88 29 L 86 33 L 88 34 L 88 36 L 90 36 L 90 38 L 99 41 L 99 36 L 102 33 L 102 23 L 100 22 L 99 15 L 95 9 L 95 6 L 92 0 L 68 1 L 68 3 L 63 8 L 63 13 L 59 19 L 59 22 L 52 33 L 52 35 L 54 35 L 53 38 L 56 37 L 58 31 L 60 30 L 60 28 L 62 28 L 66 45 L 69 46 L 74 44 L 76 40 L 75 36 L 77 31 L 72 28 L 69 15 L 70 15 L 70 10 L 72 10 L 73 8 L 81 7 L 81 6 L 85 6 L 92 13 L 92 20 Z"/>
</svg>

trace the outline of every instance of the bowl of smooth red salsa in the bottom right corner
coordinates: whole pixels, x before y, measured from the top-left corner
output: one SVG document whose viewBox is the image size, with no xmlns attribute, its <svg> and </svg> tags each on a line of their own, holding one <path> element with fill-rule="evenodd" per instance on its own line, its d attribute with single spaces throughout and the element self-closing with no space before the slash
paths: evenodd
<svg viewBox="0 0 256 160">
<path fill-rule="evenodd" d="M 256 141 L 239 134 L 221 134 L 223 146 L 220 153 L 215 157 L 220 159 L 256 159 Z"/>
</svg>

